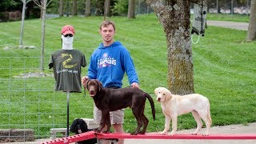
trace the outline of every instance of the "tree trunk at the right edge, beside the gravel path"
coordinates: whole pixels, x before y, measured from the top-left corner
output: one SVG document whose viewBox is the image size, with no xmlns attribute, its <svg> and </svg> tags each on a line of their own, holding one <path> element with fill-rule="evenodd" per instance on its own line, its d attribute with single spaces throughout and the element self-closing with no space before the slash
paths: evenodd
<svg viewBox="0 0 256 144">
<path fill-rule="evenodd" d="M 247 30 L 247 41 L 256 39 L 256 0 L 250 2 L 250 22 Z"/>
</svg>

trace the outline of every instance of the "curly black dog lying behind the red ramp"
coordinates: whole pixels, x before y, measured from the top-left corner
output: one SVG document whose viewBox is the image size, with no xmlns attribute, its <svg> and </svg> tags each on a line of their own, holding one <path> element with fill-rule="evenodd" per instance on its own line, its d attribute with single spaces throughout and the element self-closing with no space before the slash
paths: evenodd
<svg viewBox="0 0 256 144">
<path fill-rule="evenodd" d="M 86 122 L 81 118 L 74 119 L 74 121 L 70 126 L 70 132 L 75 134 L 86 133 L 87 131 L 91 131 L 91 130 L 94 130 L 94 129 L 88 129 Z M 78 142 L 78 144 L 94 144 L 94 143 L 97 143 L 97 138 L 87 139 L 85 141 Z"/>
</svg>

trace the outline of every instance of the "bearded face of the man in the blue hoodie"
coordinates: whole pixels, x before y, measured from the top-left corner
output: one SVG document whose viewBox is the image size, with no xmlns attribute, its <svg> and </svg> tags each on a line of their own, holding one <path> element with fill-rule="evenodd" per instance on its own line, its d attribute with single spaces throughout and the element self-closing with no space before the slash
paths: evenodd
<svg viewBox="0 0 256 144">
<path fill-rule="evenodd" d="M 114 41 L 114 27 L 112 25 L 102 26 L 102 30 L 100 30 L 100 34 L 102 35 L 102 39 L 105 42 Z"/>
</svg>

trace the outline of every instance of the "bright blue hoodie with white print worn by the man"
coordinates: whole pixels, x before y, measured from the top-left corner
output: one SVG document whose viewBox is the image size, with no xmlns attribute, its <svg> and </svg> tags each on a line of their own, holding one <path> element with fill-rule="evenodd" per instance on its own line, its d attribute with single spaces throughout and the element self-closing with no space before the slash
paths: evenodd
<svg viewBox="0 0 256 144">
<path fill-rule="evenodd" d="M 101 43 L 90 57 L 87 76 L 101 81 L 103 87 L 121 88 L 125 72 L 130 85 L 138 83 L 134 62 L 126 47 L 121 42 L 114 42 L 110 46 L 103 46 Z"/>
</svg>

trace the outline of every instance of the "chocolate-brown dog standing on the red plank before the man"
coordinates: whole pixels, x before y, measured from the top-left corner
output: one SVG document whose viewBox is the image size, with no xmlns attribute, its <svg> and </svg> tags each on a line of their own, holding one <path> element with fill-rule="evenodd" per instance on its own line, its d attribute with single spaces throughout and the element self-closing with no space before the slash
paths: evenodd
<svg viewBox="0 0 256 144">
<path fill-rule="evenodd" d="M 145 134 L 146 126 L 149 123 L 149 120 L 144 114 L 146 98 L 148 98 L 148 100 L 150 101 L 153 118 L 155 118 L 153 98 L 150 97 L 150 94 L 147 94 L 138 88 L 103 88 L 102 82 L 99 82 L 96 79 L 88 80 L 86 82 L 85 88 L 89 91 L 90 96 L 94 98 L 94 103 L 98 107 L 98 109 L 102 110 L 102 119 L 100 122 L 100 126 L 97 130 L 98 132 L 102 131 L 105 124 L 107 126 L 107 129 L 106 131 L 104 131 L 104 133 L 110 132 L 110 111 L 130 107 L 137 120 L 137 128 L 131 134 Z M 142 125 L 143 129 L 139 131 Z"/>
</svg>

